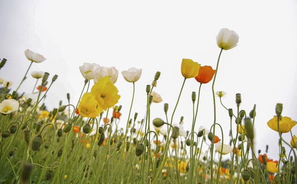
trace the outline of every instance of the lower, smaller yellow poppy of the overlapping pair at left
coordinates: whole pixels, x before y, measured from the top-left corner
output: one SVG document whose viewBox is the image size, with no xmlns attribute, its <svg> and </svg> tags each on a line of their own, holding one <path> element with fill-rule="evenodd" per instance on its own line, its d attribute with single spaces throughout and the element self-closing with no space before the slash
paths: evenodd
<svg viewBox="0 0 297 184">
<path fill-rule="evenodd" d="M 80 116 L 87 118 L 95 118 L 99 116 L 99 104 L 95 100 L 95 96 L 92 93 L 83 94 L 81 101 L 78 105 L 78 112 Z"/>
</svg>

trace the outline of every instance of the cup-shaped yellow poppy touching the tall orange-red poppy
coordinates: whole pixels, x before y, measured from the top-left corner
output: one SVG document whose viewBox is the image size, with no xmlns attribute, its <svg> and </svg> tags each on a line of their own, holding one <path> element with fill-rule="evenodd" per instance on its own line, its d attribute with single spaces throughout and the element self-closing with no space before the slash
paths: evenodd
<svg viewBox="0 0 297 184">
<path fill-rule="evenodd" d="M 181 61 L 181 74 L 185 78 L 196 77 L 199 73 L 201 64 L 194 62 L 192 59 L 182 59 Z"/>
</svg>

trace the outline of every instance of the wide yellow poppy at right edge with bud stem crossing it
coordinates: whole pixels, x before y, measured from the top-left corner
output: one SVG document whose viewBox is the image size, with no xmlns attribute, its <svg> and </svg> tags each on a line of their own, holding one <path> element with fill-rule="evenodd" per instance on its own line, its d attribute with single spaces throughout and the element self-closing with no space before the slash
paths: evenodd
<svg viewBox="0 0 297 184">
<path fill-rule="evenodd" d="M 286 133 L 289 132 L 293 126 L 297 124 L 296 121 L 292 121 L 289 117 L 282 117 L 280 120 L 280 132 Z M 271 120 L 267 122 L 267 125 L 272 129 L 278 132 L 278 118 L 274 116 Z"/>
</svg>

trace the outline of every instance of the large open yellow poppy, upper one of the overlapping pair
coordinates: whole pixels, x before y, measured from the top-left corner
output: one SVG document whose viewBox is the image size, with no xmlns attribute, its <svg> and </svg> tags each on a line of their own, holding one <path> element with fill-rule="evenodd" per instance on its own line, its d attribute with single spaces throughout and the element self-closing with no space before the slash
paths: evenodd
<svg viewBox="0 0 297 184">
<path fill-rule="evenodd" d="M 94 84 L 90 93 L 95 96 L 99 104 L 98 110 L 102 112 L 118 103 L 121 97 L 118 92 L 118 88 L 110 81 L 108 76 L 105 76 Z"/>
</svg>

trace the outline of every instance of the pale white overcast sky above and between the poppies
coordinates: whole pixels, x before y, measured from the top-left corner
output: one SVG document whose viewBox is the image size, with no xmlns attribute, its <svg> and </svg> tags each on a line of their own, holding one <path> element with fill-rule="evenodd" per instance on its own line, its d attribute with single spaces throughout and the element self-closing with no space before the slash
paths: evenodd
<svg viewBox="0 0 297 184">
<path fill-rule="evenodd" d="M 115 66 L 119 78 L 115 84 L 123 108 L 121 125 L 125 126 L 132 96 L 132 84 L 121 72 L 130 67 L 143 68 L 142 77 L 135 83 L 131 111 L 144 117 L 146 92 L 156 71 L 161 77 L 154 88 L 163 102 L 151 107 L 151 120 L 162 118 L 164 103 L 169 103 L 171 117 L 184 78 L 180 73 L 182 58 L 201 65 L 216 67 L 220 49 L 216 35 L 221 28 L 239 35 L 238 46 L 223 51 L 219 63 L 215 91 L 227 96 L 223 103 L 236 112 L 235 95 L 241 93 L 241 109 L 247 113 L 257 104 L 257 150 L 278 158 L 278 133 L 267 126 L 275 115 L 276 103 L 283 103 L 283 116 L 297 120 L 297 4 L 295 1 L 1 1 L 0 58 L 8 61 L 0 77 L 13 81 L 15 90 L 30 64 L 25 50 L 30 49 L 47 60 L 33 63 L 27 80 L 19 91 L 31 92 L 35 80 L 33 71 L 59 77 L 51 87 L 45 104 L 52 110 L 59 101 L 78 101 L 84 78 L 79 66 L 83 62 Z M 203 84 L 195 130 L 200 125 L 213 124 L 212 81 Z M 199 83 L 187 79 L 174 123 L 184 116 L 184 126 L 192 124 L 192 91 L 198 94 Z M 217 123 L 229 144 L 230 118 L 217 104 Z M 196 107 L 196 105 L 195 105 Z M 233 128 L 235 130 L 235 123 Z M 297 126 L 292 129 L 297 134 Z M 217 135 L 221 137 L 219 129 Z M 289 133 L 284 135 L 287 142 Z"/>
</svg>

